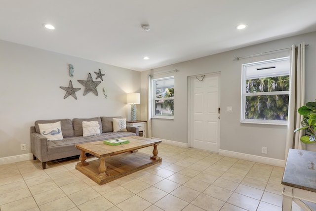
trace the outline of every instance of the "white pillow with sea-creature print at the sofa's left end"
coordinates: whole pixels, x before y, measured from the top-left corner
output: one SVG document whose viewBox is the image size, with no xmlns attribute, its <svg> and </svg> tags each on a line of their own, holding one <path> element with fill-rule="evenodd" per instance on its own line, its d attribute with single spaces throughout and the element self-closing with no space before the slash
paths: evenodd
<svg viewBox="0 0 316 211">
<path fill-rule="evenodd" d="M 40 134 L 45 136 L 49 141 L 57 141 L 64 139 L 61 132 L 60 121 L 57 123 L 39 124 Z"/>
</svg>

